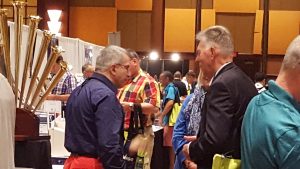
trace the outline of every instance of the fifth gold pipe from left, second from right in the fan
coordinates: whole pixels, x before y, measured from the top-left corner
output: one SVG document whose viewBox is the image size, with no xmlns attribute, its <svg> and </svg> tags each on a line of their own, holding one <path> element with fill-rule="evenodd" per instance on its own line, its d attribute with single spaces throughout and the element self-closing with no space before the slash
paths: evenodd
<svg viewBox="0 0 300 169">
<path fill-rule="evenodd" d="M 61 53 L 63 52 L 63 49 L 61 49 L 60 47 L 58 46 L 55 46 L 55 47 L 52 47 L 51 48 L 51 55 L 50 55 L 50 59 L 49 61 L 47 62 L 47 65 L 44 69 L 44 72 L 41 76 L 41 79 L 38 83 L 38 86 L 36 87 L 36 90 L 32 96 L 32 100 L 31 100 L 31 103 L 30 103 L 30 106 L 29 107 L 32 107 L 32 105 L 34 104 L 36 98 L 38 97 L 39 93 L 41 92 L 41 89 L 45 83 L 45 81 L 47 80 L 47 77 L 53 67 L 53 65 L 55 64 L 56 62 L 56 59 L 58 58 L 58 56 L 61 55 Z"/>
</svg>

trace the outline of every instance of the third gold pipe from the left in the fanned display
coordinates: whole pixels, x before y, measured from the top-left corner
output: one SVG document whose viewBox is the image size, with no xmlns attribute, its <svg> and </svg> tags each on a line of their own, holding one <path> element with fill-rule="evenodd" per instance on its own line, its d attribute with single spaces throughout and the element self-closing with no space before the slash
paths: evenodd
<svg viewBox="0 0 300 169">
<path fill-rule="evenodd" d="M 32 59 L 32 54 L 33 54 L 33 46 L 34 46 L 35 37 L 36 37 L 36 30 L 37 30 L 37 26 L 41 19 L 42 18 L 39 16 L 30 16 L 29 36 L 28 36 L 27 52 L 26 52 L 23 77 L 22 77 L 22 86 L 21 86 L 19 107 L 21 107 L 21 105 L 22 105 L 25 85 L 26 85 L 26 81 L 27 81 L 28 67 L 29 67 L 30 61 Z"/>
</svg>

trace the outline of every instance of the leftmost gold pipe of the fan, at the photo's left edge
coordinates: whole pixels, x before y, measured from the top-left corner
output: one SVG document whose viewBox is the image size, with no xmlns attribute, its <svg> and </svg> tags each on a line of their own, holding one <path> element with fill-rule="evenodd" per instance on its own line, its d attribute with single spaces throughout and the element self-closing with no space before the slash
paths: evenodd
<svg viewBox="0 0 300 169">
<path fill-rule="evenodd" d="M 7 24 L 7 9 L 0 9 L 0 24 L 1 24 L 1 35 L 3 40 L 4 50 L 4 63 L 7 80 L 10 86 L 13 86 L 12 73 L 10 68 L 10 48 L 9 48 L 9 32 Z"/>
</svg>

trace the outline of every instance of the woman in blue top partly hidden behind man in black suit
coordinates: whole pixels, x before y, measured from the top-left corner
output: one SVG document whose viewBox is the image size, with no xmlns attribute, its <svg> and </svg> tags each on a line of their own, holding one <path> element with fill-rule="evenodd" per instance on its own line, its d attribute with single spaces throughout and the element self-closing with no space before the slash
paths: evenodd
<svg viewBox="0 0 300 169">
<path fill-rule="evenodd" d="M 184 144 L 196 139 L 201 120 L 201 108 L 205 97 L 205 90 L 210 79 L 203 76 L 198 77 L 198 85 L 194 93 L 184 100 L 176 124 L 174 126 L 172 144 L 176 154 L 174 169 L 185 169 L 189 163 L 183 154 Z"/>
</svg>

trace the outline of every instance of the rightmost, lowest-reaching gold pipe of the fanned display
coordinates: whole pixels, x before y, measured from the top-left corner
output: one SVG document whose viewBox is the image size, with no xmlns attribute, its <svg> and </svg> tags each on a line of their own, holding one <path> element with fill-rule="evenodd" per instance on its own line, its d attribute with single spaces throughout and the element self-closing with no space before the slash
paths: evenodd
<svg viewBox="0 0 300 169">
<path fill-rule="evenodd" d="M 40 105 L 43 103 L 43 101 L 46 99 L 46 97 L 48 96 L 48 94 L 52 91 L 52 89 L 55 87 L 55 85 L 59 82 L 59 80 L 61 79 L 61 77 L 66 73 L 67 69 L 68 69 L 68 65 L 65 61 L 61 61 L 60 62 L 60 70 L 59 72 L 54 76 L 53 81 L 51 82 L 51 84 L 49 85 L 48 89 L 46 90 L 46 92 L 44 93 L 44 95 L 42 96 L 42 98 L 39 100 L 38 104 L 35 106 L 33 113 L 35 113 L 35 111 L 40 107 Z"/>
</svg>

